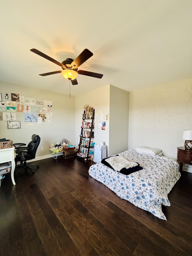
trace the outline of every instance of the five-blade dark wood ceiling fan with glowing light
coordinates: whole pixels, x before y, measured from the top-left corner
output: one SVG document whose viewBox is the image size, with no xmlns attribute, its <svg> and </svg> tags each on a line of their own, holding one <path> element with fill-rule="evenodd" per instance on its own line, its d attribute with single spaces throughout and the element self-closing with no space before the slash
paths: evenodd
<svg viewBox="0 0 192 256">
<path fill-rule="evenodd" d="M 38 54 L 39 56 L 48 59 L 49 61 L 57 64 L 58 66 L 60 66 L 63 70 L 59 70 L 59 71 L 53 71 L 53 72 L 49 72 L 49 73 L 44 73 L 44 74 L 39 74 L 40 76 L 49 76 L 52 74 L 58 74 L 61 73 L 63 75 L 64 78 L 71 80 L 71 83 L 73 85 L 78 84 L 76 77 L 77 75 L 85 75 L 85 76 L 89 76 L 89 77 L 96 77 L 96 78 L 102 78 L 103 75 L 102 74 L 98 74 L 98 73 L 94 73 L 94 72 L 90 72 L 90 71 L 85 71 L 85 70 L 78 70 L 78 67 L 83 64 L 86 60 L 88 60 L 91 56 L 93 56 L 93 53 L 91 53 L 88 49 L 85 49 L 82 51 L 82 53 L 79 54 L 78 57 L 76 57 L 76 59 L 70 59 L 67 58 L 66 60 L 64 60 L 62 63 L 56 61 L 55 59 L 52 59 L 51 57 L 49 57 L 48 55 L 40 52 L 37 49 L 31 49 L 30 51 L 32 51 L 33 53 Z"/>
</svg>

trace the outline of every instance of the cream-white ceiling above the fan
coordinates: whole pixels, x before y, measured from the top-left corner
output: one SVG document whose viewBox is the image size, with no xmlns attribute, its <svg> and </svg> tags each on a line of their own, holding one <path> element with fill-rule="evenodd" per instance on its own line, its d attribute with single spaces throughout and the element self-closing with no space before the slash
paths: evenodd
<svg viewBox="0 0 192 256">
<path fill-rule="evenodd" d="M 126 91 L 192 77 L 192 1 L 2 0 L 0 80 L 69 94 L 62 70 L 30 51 L 62 62 L 85 48 L 93 56 L 79 69 L 71 94 L 104 85 Z"/>
</svg>

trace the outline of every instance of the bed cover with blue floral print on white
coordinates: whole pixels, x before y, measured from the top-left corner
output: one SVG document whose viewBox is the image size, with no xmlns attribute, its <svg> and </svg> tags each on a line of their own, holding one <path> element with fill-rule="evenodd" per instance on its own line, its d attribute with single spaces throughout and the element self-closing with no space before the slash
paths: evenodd
<svg viewBox="0 0 192 256">
<path fill-rule="evenodd" d="M 122 199 L 151 212 L 160 219 L 167 220 L 161 205 L 170 206 L 167 195 L 181 176 L 176 159 L 141 154 L 133 149 L 119 155 L 139 163 L 143 169 L 125 175 L 98 162 L 91 165 L 89 175 L 106 185 Z"/>
</svg>

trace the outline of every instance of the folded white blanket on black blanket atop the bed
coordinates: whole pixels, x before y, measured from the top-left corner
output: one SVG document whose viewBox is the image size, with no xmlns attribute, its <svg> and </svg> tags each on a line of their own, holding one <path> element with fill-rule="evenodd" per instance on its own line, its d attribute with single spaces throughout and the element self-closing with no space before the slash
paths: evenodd
<svg viewBox="0 0 192 256">
<path fill-rule="evenodd" d="M 122 168 L 131 168 L 138 165 L 136 162 L 129 161 L 120 155 L 112 156 L 110 158 L 105 159 L 105 161 L 109 163 L 113 167 L 113 169 L 118 172 L 120 172 Z"/>
</svg>

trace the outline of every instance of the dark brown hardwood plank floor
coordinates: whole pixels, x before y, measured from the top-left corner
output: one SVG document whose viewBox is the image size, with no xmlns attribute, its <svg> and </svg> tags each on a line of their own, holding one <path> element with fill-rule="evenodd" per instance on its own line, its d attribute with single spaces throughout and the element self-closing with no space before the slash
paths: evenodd
<svg viewBox="0 0 192 256">
<path fill-rule="evenodd" d="M 192 255 L 192 173 L 163 207 L 167 221 L 118 197 L 76 158 L 36 161 L 0 188 L 0 255 Z"/>
</svg>

